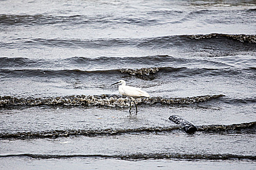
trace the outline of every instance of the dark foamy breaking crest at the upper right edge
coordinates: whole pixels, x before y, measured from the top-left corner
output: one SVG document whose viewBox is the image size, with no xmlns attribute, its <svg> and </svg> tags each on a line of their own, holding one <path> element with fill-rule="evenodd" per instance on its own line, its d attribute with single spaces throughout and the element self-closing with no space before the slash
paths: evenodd
<svg viewBox="0 0 256 170">
<path fill-rule="evenodd" d="M 246 34 L 197 34 L 197 35 L 188 35 L 192 39 L 207 39 L 207 38 L 217 38 L 217 37 L 225 37 L 229 39 L 235 39 L 240 42 L 249 42 L 256 43 L 256 34 L 246 35 Z"/>
</svg>

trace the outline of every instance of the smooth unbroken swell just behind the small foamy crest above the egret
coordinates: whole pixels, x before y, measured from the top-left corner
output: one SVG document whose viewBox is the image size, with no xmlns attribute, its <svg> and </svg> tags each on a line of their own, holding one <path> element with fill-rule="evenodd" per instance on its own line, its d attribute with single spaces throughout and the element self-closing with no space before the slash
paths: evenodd
<svg viewBox="0 0 256 170">
<path fill-rule="evenodd" d="M 82 66 L 107 66 L 120 68 L 120 65 L 144 65 L 156 66 L 166 65 L 168 63 L 186 63 L 186 61 L 192 62 L 188 59 L 175 58 L 169 55 L 149 55 L 149 56 L 137 56 L 137 57 L 69 57 L 64 59 L 29 59 L 24 57 L 0 57 L 0 68 L 60 68 L 68 65 L 68 67 L 81 67 Z M 195 62 L 199 62 L 196 60 Z"/>
</svg>

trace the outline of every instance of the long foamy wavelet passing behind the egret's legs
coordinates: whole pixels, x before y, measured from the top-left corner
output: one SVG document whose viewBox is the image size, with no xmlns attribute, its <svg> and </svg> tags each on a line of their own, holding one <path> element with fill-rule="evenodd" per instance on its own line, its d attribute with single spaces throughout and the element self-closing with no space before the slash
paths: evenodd
<svg viewBox="0 0 256 170">
<path fill-rule="evenodd" d="M 197 102 L 207 102 L 224 95 L 205 95 L 187 98 L 163 98 L 149 97 L 138 99 L 138 104 L 192 104 Z M 108 106 L 108 107 L 129 107 L 128 98 L 120 95 L 101 95 L 101 96 L 64 96 L 49 98 L 18 98 L 14 96 L 0 96 L 0 107 L 19 106 L 19 105 L 89 105 L 89 106 Z"/>
</svg>

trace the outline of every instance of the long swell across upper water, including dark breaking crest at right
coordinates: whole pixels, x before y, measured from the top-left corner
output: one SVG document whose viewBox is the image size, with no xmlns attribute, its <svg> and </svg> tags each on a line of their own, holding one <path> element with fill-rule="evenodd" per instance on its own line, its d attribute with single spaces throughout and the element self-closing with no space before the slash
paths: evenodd
<svg viewBox="0 0 256 170">
<path fill-rule="evenodd" d="M 213 39 L 213 37 L 215 39 Z M 97 49 L 107 47 L 136 47 L 136 48 L 173 48 L 173 47 L 184 47 L 189 44 L 203 43 L 196 40 L 211 39 L 209 43 L 216 43 L 216 45 L 226 46 L 226 43 L 231 40 L 238 40 L 239 42 L 256 42 L 255 34 L 192 34 L 192 35 L 171 35 L 171 36 L 160 36 L 160 37 L 149 37 L 149 38 L 100 38 L 100 39 L 62 39 L 62 38 L 17 38 L 10 42 L 1 42 L 0 48 L 27 48 L 32 46 L 34 48 L 47 47 L 65 47 L 71 49 Z M 217 40 L 222 41 L 217 41 Z M 202 44 L 202 45 L 203 45 Z M 235 44 L 234 44 L 235 45 Z M 230 46 L 230 44 L 229 44 Z M 242 48 L 243 46 L 241 46 Z M 254 47 L 254 46 L 253 46 Z"/>
</svg>

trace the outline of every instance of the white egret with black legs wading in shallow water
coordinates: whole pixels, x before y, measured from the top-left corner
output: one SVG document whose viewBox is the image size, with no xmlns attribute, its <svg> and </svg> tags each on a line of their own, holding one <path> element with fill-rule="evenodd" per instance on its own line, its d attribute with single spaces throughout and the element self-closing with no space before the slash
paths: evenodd
<svg viewBox="0 0 256 170">
<path fill-rule="evenodd" d="M 128 99 L 129 99 L 129 102 L 130 102 L 130 99 L 132 100 L 132 102 L 134 102 L 135 108 L 136 108 L 136 115 L 137 115 L 138 109 L 137 109 L 137 105 L 135 103 L 135 99 L 142 98 L 142 97 L 147 97 L 148 98 L 149 93 L 147 93 L 146 91 L 141 90 L 138 87 L 132 87 L 132 86 L 126 85 L 126 81 L 124 81 L 124 80 L 120 80 L 119 82 L 116 82 L 112 85 L 116 85 L 116 84 L 121 84 L 118 87 L 119 93 L 124 95 L 124 96 L 127 96 Z M 130 110 L 131 110 L 131 102 L 130 102 L 129 112 L 130 112 Z"/>
</svg>

